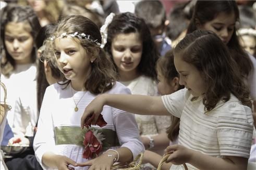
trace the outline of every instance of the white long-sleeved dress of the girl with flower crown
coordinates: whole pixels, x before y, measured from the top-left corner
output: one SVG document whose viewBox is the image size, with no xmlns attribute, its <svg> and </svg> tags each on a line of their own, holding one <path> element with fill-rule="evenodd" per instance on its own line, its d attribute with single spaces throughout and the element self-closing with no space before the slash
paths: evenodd
<svg viewBox="0 0 256 170">
<path fill-rule="evenodd" d="M 84 108 L 95 98 L 95 95 L 89 91 L 75 91 L 71 85 L 68 85 L 65 89 L 62 88 L 63 86 L 59 84 L 48 86 L 40 110 L 38 131 L 34 138 L 33 147 L 36 159 L 44 169 L 53 169 L 42 163 L 42 156 L 47 151 L 65 155 L 75 162 L 87 161 L 87 159 L 83 159 L 84 147 L 74 144 L 79 142 L 79 139 L 83 138 L 83 136 L 74 136 L 74 134 L 82 132 L 80 129 L 81 116 Z M 77 112 L 74 111 L 76 106 L 71 90 L 74 93 L 76 103 L 82 98 L 78 103 L 79 110 Z M 106 93 L 130 94 L 130 90 L 117 82 Z M 130 149 L 133 158 L 136 158 L 140 152 L 144 152 L 144 146 L 139 139 L 139 131 L 134 114 L 104 106 L 102 115 L 107 125 L 102 128 L 99 126 L 93 127 L 115 132 L 120 146 Z M 58 134 L 57 130 L 65 128 L 70 130 L 70 132 L 67 130 L 66 132 L 59 133 L 60 135 L 55 135 L 55 133 Z M 76 131 L 72 129 L 76 129 Z M 105 137 L 107 138 L 107 136 Z M 64 140 L 64 142 L 61 143 L 59 142 L 60 140 Z M 115 149 L 117 147 L 113 146 L 111 148 Z M 88 169 L 88 167 L 75 167 L 75 169 Z"/>
</svg>

